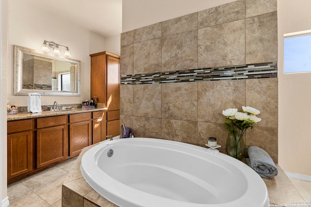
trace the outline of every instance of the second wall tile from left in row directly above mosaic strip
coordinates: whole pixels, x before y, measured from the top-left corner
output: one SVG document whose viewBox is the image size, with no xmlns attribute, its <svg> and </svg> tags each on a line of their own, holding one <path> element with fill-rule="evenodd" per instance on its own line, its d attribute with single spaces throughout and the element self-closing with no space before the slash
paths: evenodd
<svg viewBox="0 0 311 207">
<path fill-rule="evenodd" d="M 134 44 L 134 74 L 161 71 L 161 39 Z"/>
</svg>

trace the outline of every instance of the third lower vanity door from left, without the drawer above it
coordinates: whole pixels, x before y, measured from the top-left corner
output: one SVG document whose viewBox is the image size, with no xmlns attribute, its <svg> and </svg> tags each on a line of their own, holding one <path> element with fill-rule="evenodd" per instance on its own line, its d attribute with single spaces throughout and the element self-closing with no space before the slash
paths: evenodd
<svg viewBox="0 0 311 207">
<path fill-rule="evenodd" d="M 69 124 L 69 156 L 79 154 L 82 149 L 92 144 L 91 121 Z"/>
</svg>

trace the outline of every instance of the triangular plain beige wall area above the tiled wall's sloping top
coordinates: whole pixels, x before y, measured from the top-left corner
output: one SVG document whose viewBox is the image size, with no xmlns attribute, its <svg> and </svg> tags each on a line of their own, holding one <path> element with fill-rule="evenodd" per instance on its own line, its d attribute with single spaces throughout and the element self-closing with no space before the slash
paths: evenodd
<svg viewBox="0 0 311 207">
<path fill-rule="evenodd" d="M 123 0 L 122 32 L 184 16 L 235 0 Z"/>
</svg>

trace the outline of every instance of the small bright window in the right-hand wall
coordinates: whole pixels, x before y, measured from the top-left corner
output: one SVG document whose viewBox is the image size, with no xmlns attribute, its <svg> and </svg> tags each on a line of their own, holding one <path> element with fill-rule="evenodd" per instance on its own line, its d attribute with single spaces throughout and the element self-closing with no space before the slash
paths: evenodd
<svg viewBox="0 0 311 207">
<path fill-rule="evenodd" d="M 284 73 L 311 72 L 311 30 L 284 34 Z"/>
</svg>

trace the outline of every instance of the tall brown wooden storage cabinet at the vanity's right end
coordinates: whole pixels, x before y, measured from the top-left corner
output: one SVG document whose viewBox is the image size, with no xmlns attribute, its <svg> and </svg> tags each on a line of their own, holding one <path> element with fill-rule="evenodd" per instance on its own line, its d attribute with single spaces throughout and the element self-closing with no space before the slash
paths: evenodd
<svg viewBox="0 0 311 207">
<path fill-rule="evenodd" d="M 120 56 L 107 51 L 90 56 L 91 97 L 97 96 L 97 103 L 105 104 L 104 134 L 114 137 L 120 134 Z"/>
</svg>

